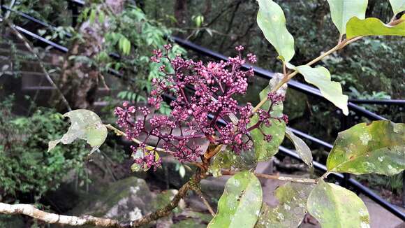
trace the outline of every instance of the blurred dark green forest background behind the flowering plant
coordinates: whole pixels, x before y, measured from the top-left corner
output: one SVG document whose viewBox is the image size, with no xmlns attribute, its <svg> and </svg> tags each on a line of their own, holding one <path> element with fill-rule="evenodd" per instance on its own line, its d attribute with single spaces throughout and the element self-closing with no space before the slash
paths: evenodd
<svg viewBox="0 0 405 228">
<path fill-rule="evenodd" d="M 83 143 L 46 152 L 47 142 L 61 136 L 68 127 L 59 114 L 68 108 L 45 71 L 71 108 L 98 111 L 103 121 L 110 123 L 115 122 L 113 108 L 122 101 L 145 103 L 152 78 L 159 77 L 159 65 L 150 62 L 149 57 L 152 50 L 170 42 L 170 35 L 226 56 L 235 55 L 236 45 L 244 45 L 245 50 L 257 55 L 258 66 L 281 71 L 277 52 L 256 24 L 255 0 L 98 0 L 86 1 L 81 13 L 76 14 L 71 1 L 2 2 L 12 9 L 2 8 L 7 19 L 1 22 L 0 28 L 0 201 L 8 203 L 37 203 L 64 213 L 74 210 L 78 204 L 74 200 L 76 194 L 89 193 L 100 183 L 133 176 L 129 168 L 131 158 L 126 152 L 128 143 L 113 135 L 100 152 L 92 155 Z M 339 34 L 330 20 L 327 1 L 277 3 L 283 8 L 288 31 L 295 38 L 292 64 L 305 64 L 336 45 Z M 13 10 L 36 17 L 49 26 L 26 20 Z M 367 17 L 371 16 L 389 22 L 392 10 L 388 1 L 369 0 Z M 29 38 L 33 52 L 15 36 L 14 25 L 63 45 L 68 51 L 61 52 Z M 323 59 L 321 64 L 330 70 L 332 80 L 343 85 L 344 94 L 351 99 L 404 99 L 404 47 L 405 39 L 401 37 L 367 37 Z M 170 55 L 179 54 L 209 61 L 174 45 Z M 251 90 L 240 99 L 256 104 L 258 92 L 267 83 L 254 78 L 250 82 Z M 363 107 L 394 122 L 404 122 L 404 107 Z M 159 112 L 170 113 L 169 106 L 162 106 Z M 291 127 L 329 143 L 342 130 L 341 115 L 334 106 L 294 90 L 288 90 L 285 113 Z M 349 124 L 368 121 L 351 114 Z M 314 159 L 324 163 L 327 150 L 308 144 L 314 150 Z M 296 161 L 277 159 L 281 161 L 276 162 L 280 170 L 303 169 Z M 186 178 L 186 168 L 175 162 L 167 167 L 159 170 L 160 174 L 135 173 L 135 176 L 146 178 L 152 192 L 177 187 Z M 372 175 L 360 180 L 379 190 L 385 199 L 401 205 L 405 204 L 401 198 L 402 178 L 402 175 L 391 178 Z M 77 190 L 75 194 L 67 194 L 72 188 Z M 64 194 L 66 198 L 61 199 Z"/>
</svg>

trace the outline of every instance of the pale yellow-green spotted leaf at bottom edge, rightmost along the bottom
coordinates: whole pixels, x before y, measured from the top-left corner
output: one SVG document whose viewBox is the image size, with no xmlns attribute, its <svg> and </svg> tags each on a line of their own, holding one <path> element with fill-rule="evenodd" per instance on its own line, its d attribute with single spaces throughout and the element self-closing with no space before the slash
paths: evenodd
<svg viewBox="0 0 405 228">
<path fill-rule="evenodd" d="M 354 192 L 323 180 L 309 195 L 307 209 L 323 228 L 370 227 L 364 202 Z"/>
</svg>

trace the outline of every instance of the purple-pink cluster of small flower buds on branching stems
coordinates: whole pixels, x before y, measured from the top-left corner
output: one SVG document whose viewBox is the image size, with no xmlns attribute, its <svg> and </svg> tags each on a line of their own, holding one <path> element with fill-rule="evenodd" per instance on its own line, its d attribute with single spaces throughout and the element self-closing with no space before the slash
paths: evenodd
<svg viewBox="0 0 405 228">
<path fill-rule="evenodd" d="M 253 69 L 242 70 L 244 47 L 235 48 L 239 55 L 229 57 L 228 62 L 207 64 L 180 56 L 170 59 L 167 55 L 170 48 L 165 45 L 165 55 L 162 50 L 155 50 L 151 57 L 157 63 L 162 58 L 168 59 L 174 72 L 166 72 L 164 66 L 160 68 L 165 76 L 152 80 L 154 90 L 148 99 L 152 108 L 160 108 L 163 94 L 171 94 L 176 99 L 170 103 L 170 115 L 150 115 L 149 108 L 135 108 L 127 102 L 115 109 L 117 124 L 125 129 L 127 137 L 144 138 L 143 143 L 132 148 L 133 152 L 144 152 L 144 156 L 136 158 L 135 162 L 147 168 L 160 165 L 153 151 L 156 148 L 146 146 L 152 139 L 181 162 L 196 161 L 202 155 L 201 140 L 228 145 L 237 154 L 249 150 L 252 145 L 249 131 L 260 128 L 261 124 L 268 126 L 270 119 L 275 117 L 270 115 L 271 110 L 262 110 L 258 112 L 259 122 L 249 127 L 253 107 L 249 103 L 241 106 L 234 98 L 246 93 L 248 78 L 253 76 Z M 253 54 L 248 54 L 247 59 L 256 62 Z M 269 94 L 269 99 L 276 104 L 283 96 Z M 277 119 L 283 121 L 286 117 Z M 270 141 L 271 136 L 266 139 Z"/>
</svg>

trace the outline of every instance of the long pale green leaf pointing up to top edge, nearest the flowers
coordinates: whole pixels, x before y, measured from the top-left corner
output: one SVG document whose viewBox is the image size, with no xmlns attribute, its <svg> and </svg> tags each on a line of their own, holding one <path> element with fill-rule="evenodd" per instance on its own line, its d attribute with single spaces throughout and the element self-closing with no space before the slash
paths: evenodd
<svg viewBox="0 0 405 228">
<path fill-rule="evenodd" d="M 258 0 L 258 2 L 258 26 L 279 55 L 289 62 L 295 54 L 294 38 L 287 30 L 283 9 L 272 0 Z"/>
</svg>

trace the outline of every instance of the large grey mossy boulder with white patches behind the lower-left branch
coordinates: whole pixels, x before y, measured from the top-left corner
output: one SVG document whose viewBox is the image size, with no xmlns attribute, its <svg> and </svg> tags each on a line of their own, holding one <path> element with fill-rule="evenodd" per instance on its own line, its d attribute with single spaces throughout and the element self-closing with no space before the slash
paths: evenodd
<svg viewBox="0 0 405 228">
<path fill-rule="evenodd" d="M 167 205 L 178 191 L 167 190 L 156 194 L 149 190 L 145 180 L 130 177 L 101 187 L 98 192 L 91 192 L 84 197 L 69 214 L 94 215 L 124 221 L 137 220 Z M 181 213 L 184 207 L 184 201 L 180 201 L 174 212 Z M 164 228 L 170 224 L 170 218 L 162 218 L 156 222 L 156 227 Z"/>
</svg>

